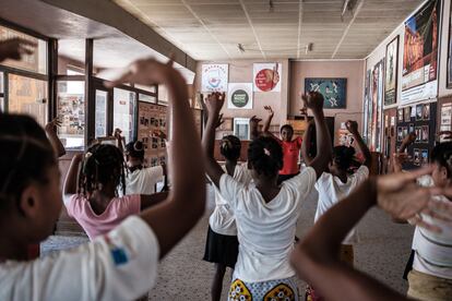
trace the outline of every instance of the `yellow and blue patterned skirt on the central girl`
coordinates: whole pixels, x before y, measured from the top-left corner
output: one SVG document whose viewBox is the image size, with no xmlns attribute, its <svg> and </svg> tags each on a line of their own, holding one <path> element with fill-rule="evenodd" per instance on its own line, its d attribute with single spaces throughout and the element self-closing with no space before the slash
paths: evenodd
<svg viewBox="0 0 452 301">
<path fill-rule="evenodd" d="M 235 279 L 230 285 L 228 301 L 298 301 L 297 278 L 245 282 Z"/>
</svg>

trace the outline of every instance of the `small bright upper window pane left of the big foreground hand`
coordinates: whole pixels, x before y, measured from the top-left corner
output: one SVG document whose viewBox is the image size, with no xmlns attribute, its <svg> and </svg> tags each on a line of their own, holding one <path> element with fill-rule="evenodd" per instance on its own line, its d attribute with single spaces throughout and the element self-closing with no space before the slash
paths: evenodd
<svg viewBox="0 0 452 301">
<path fill-rule="evenodd" d="M 59 39 L 58 40 L 58 74 L 83 75 L 85 74 L 85 40 Z"/>
</svg>

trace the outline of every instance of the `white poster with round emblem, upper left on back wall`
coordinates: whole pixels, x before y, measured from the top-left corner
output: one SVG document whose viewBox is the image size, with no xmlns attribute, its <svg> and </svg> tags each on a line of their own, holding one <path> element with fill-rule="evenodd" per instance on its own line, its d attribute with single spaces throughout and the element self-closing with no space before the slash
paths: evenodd
<svg viewBox="0 0 452 301">
<path fill-rule="evenodd" d="M 229 65 L 226 64 L 203 64 L 201 92 L 227 92 Z"/>
</svg>

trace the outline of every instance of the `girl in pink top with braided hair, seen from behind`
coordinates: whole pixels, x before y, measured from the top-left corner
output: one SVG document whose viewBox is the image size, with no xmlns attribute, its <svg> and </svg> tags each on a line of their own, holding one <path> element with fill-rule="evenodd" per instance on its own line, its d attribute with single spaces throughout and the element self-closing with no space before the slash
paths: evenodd
<svg viewBox="0 0 452 301">
<path fill-rule="evenodd" d="M 96 144 L 86 154 L 75 155 L 64 181 L 64 205 L 91 240 L 116 228 L 130 215 L 164 201 L 167 193 L 126 194 L 124 160 L 118 147 Z M 76 171 L 83 162 L 76 188 Z"/>
</svg>

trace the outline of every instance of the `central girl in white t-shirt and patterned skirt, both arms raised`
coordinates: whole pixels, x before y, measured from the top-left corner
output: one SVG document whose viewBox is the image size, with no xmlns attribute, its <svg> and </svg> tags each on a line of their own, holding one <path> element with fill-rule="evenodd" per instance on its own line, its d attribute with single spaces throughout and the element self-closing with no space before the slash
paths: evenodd
<svg viewBox="0 0 452 301">
<path fill-rule="evenodd" d="M 229 300 L 298 300 L 295 272 L 288 262 L 294 249 L 296 222 L 301 202 L 328 166 L 331 143 L 323 117 L 323 97 L 310 93 L 304 99 L 314 115 L 318 156 L 304 171 L 277 185 L 283 150 L 272 137 L 259 137 L 248 148 L 252 182 L 243 184 L 225 173 L 213 157 L 215 124 L 224 95 L 207 97 L 209 112 L 203 145 L 207 174 L 235 214 L 239 255 Z"/>
</svg>

